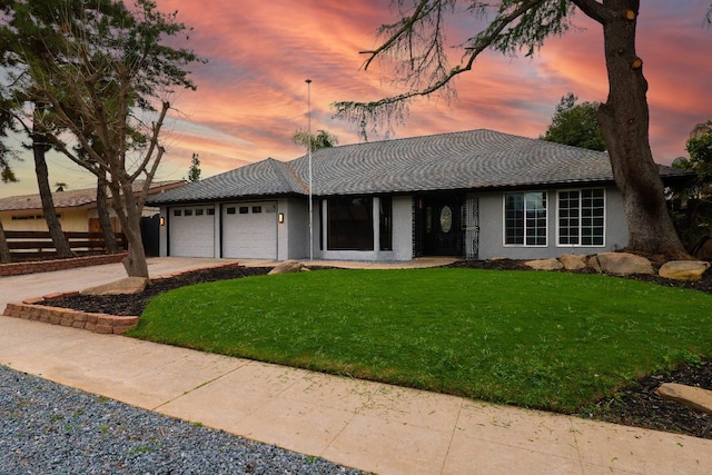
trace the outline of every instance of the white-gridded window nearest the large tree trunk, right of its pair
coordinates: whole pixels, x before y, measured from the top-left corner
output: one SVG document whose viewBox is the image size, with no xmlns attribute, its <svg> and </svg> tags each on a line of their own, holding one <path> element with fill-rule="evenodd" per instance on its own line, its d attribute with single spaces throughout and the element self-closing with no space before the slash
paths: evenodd
<svg viewBox="0 0 712 475">
<path fill-rule="evenodd" d="M 603 188 L 558 192 L 560 246 L 603 246 L 604 236 Z"/>
</svg>

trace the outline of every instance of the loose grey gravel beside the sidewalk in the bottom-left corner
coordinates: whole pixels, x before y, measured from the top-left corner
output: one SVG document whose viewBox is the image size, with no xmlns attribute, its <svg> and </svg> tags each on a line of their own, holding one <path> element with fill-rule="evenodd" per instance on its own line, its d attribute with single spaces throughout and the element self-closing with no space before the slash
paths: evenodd
<svg viewBox="0 0 712 475">
<path fill-rule="evenodd" d="M 3 474 L 360 474 L 0 366 Z"/>
</svg>

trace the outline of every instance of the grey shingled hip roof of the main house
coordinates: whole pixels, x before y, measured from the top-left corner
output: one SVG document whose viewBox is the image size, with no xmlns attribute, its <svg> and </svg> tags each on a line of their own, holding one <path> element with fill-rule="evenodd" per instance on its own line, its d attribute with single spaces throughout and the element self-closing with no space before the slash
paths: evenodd
<svg viewBox="0 0 712 475">
<path fill-rule="evenodd" d="M 317 196 L 612 182 L 606 152 L 479 129 L 313 152 Z M 663 177 L 686 177 L 661 166 Z M 306 195 L 308 157 L 267 159 L 166 191 L 152 204 Z"/>
</svg>

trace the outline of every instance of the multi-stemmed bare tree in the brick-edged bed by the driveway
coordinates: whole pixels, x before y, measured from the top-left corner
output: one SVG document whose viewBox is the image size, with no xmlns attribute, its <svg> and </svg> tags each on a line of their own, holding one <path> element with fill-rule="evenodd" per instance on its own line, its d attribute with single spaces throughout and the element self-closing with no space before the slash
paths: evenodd
<svg viewBox="0 0 712 475">
<path fill-rule="evenodd" d="M 159 137 L 168 98 L 176 87 L 195 89 L 185 68 L 200 59 L 162 43 L 187 28 L 176 22 L 177 12 L 164 14 L 151 0 L 137 0 L 132 10 L 118 0 L 100 8 L 62 3 L 69 6 L 56 20 L 58 55 L 27 61 L 27 77 L 49 107 L 41 132 L 103 180 L 129 245 L 127 274 L 148 277 L 140 218 L 166 152 Z"/>
</svg>

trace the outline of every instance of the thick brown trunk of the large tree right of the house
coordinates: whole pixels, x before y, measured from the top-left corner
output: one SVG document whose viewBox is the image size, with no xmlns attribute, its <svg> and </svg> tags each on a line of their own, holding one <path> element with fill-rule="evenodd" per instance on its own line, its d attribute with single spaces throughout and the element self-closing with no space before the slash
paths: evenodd
<svg viewBox="0 0 712 475">
<path fill-rule="evenodd" d="M 601 131 L 611 156 L 615 184 L 623 196 L 629 249 L 689 258 L 664 199 L 649 141 L 647 81 L 635 53 L 640 0 L 609 0 L 603 19 L 609 98 L 599 110 Z"/>
</svg>

